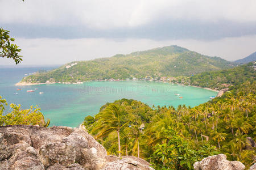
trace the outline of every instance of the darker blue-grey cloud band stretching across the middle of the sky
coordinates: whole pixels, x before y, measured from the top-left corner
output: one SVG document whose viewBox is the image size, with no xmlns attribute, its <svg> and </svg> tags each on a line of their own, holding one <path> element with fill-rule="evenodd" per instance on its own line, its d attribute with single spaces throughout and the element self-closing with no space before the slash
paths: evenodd
<svg viewBox="0 0 256 170">
<path fill-rule="evenodd" d="M 13 36 L 26 38 L 141 38 L 152 40 L 199 39 L 216 40 L 224 37 L 256 35 L 256 23 L 159 21 L 136 28 L 92 29 L 84 25 L 48 27 L 33 24 L 3 24 Z"/>
</svg>

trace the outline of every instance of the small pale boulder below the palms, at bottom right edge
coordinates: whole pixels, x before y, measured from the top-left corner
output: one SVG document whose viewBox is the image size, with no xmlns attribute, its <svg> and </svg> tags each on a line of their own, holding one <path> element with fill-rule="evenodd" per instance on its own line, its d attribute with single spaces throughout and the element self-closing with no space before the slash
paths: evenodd
<svg viewBox="0 0 256 170">
<path fill-rule="evenodd" d="M 245 165 L 238 161 L 226 160 L 226 155 L 214 155 L 208 156 L 201 160 L 201 162 L 196 162 L 194 164 L 195 170 L 242 170 L 245 169 Z"/>
</svg>

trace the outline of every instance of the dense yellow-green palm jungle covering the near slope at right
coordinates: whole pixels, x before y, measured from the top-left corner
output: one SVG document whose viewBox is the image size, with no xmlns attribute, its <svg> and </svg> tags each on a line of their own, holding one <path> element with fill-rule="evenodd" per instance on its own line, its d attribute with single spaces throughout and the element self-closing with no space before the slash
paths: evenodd
<svg viewBox="0 0 256 170">
<path fill-rule="evenodd" d="M 248 168 L 256 156 L 255 90 L 256 82 L 246 81 L 194 108 L 117 100 L 85 117 L 84 125 L 109 154 L 138 156 L 156 169 L 192 169 L 219 153 Z"/>
</svg>

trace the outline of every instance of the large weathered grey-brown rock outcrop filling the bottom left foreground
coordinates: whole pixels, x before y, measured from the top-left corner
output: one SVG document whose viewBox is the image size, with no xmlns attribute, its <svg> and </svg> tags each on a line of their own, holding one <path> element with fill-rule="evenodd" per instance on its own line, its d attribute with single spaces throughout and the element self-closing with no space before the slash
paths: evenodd
<svg viewBox="0 0 256 170">
<path fill-rule="evenodd" d="M 84 127 L 0 126 L 0 169 L 152 169 L 134 156 L 109 156 Z"/>
</svg>

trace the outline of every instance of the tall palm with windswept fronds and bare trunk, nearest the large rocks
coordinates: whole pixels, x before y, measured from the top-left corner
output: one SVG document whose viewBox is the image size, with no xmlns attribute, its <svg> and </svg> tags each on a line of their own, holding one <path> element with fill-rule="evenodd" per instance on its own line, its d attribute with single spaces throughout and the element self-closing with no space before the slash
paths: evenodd
<svg viewBox="0 0 256 170">
<path fill-rule="evenodd" d="M 98 131 L 96 138 L 100 138 L 104 135 L 108 135 L 112 131 L 117 131 L 118 136 L 118 156 L 121 157 L 120 146 L 120 130 L 129 122 L 121 122 L 121 113 L 115 104 L 110 104 L 102 112 L 98 113 L 96 120 L 98 119 L 98 127 L 93 131 Z"/>
</svg>

